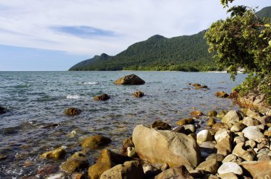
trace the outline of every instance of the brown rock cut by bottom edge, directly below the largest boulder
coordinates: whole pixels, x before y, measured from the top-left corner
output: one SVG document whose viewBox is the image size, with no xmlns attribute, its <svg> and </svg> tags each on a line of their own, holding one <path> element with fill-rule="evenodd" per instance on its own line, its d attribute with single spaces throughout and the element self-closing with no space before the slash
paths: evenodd
<svg viewBox="0 0 271 179">
<path fill-rule="evenodd" d="M 159 175 L 156 175 L 154 179 L 166 179 L 166 178 L 178 178 L 178 179 L 193 179 L 185 166 L 173 167 L 163 171 Z"/>
</svg>

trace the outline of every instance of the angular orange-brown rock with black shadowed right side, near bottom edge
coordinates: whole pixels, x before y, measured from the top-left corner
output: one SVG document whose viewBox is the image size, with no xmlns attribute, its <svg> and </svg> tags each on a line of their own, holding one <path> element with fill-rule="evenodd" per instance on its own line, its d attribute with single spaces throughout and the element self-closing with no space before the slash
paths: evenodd
<svg viewBox="0 0 271 179">
<path fill-rule="evenodd" d="M 98 179 L 104 171 L 109 170 L 118 164 L 122 164 L 125 161 L 129 161 L 129 159 L 130 158 L 127 156 L 123 156 L 108 149 L 103 149 L 96 163 L 88 168 L 88 177 L 91 179 Z"/>
</svg>

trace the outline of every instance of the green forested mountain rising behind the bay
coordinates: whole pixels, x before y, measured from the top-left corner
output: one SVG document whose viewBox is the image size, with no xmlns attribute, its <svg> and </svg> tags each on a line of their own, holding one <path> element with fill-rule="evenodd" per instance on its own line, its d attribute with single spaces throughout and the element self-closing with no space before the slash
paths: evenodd
<svg viewBox="0 0 271 179">
<path fill-rule="evenodd" d="M 260 18 L 271 18 L 271 6 L 258 11 Z M 118 55 L 96 55 L 69 70 L 221 70 L 208 53 L 205 31 L 192 36 L 165 38 L 155 35 L 135 43 Z"/>
</svg>

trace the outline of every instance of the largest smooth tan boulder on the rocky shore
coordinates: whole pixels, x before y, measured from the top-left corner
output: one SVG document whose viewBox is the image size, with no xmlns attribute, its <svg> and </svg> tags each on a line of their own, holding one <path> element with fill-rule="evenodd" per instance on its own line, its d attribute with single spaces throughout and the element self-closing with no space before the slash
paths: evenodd
<svg viewBox="0 0 271 179">
<path fill-rule="evenodd" d="M 173 131 L 156 131 L 138 125 L 133 130 L 133 143 L 138 156 L 150 163 L 169 166 L 198 166 L 200 148 L 192 137 Z"/>
</svg>

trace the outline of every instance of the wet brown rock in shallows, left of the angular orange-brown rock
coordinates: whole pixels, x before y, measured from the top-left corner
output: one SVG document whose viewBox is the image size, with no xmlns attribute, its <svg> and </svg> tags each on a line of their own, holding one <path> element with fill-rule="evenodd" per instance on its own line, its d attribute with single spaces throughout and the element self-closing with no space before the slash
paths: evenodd
<svg viewBox="0 0 271 179">
<path fill-rule="evenodd" d="M 60 168 L 68 173 L 73 173 L 75 171 L 88 168 L 88 159 L 85 157 L 68 158 L 68 160 L 60 166 Z"/>
</svg>

